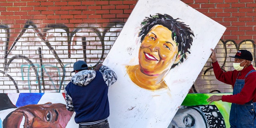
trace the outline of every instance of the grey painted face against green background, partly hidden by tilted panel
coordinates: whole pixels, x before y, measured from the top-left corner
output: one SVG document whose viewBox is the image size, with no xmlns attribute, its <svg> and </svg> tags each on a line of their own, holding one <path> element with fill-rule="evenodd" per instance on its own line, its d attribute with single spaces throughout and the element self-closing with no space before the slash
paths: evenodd
<svg viewBox="0 0 256 128">
<path fill-rule="evenodd" d="M 170 128 L 207 128 L 202 115 L 192 109 L 179 109 L 172 122 Z M 168 128 L 169 128 L 168 127 Z"/>
</svg>

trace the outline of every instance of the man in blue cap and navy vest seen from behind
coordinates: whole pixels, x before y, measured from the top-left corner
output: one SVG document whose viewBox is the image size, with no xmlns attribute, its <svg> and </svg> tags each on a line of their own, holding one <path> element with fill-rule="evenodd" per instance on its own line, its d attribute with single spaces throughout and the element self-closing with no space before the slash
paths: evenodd
<svg viewBox="0 0 256 128">
<path fill-rule="evenodd" d="M 89 70 L 82 60 L 73 67 L 75 75 L 65 88 L 67 110 L 76 112 L 79 128 L 109 128 L 108 87 L 117 80 L 115 72 L 102 64 Z"/>
</svg>

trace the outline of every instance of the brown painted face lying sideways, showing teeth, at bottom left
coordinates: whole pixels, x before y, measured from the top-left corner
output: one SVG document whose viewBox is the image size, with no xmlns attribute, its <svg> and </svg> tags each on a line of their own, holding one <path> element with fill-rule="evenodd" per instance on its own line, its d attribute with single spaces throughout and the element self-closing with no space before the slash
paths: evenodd
<svg viewBox="0 0 256 128">
<path fill-rule="evenodd" d="M 65 128 L 73 112 L 65 104 L 33 104 L 14 110 L 4 128 Z"/>
</svg>

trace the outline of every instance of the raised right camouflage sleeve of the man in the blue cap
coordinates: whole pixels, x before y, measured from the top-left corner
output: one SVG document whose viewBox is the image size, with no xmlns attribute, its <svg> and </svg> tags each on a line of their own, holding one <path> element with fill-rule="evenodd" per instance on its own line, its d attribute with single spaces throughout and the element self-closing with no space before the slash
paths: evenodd
<svg viewBox="0 0 256 128">
<path fill-rule="evenodd" d="M 114 84 L 114 82 L 116 82 L 116 73 L 107 66 L 101 66 L 99 71 L 102 73 L 104 81 L 108 86 L 111 86 L 112 84 Z"/>
</svg>

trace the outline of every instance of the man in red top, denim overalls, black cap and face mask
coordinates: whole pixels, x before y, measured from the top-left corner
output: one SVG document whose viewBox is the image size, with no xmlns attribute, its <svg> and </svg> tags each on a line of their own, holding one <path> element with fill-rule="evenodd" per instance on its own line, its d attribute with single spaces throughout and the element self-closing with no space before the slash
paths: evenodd
<svg viewBox="0 0 256 128">
<path fill-rule="evenodd" d="M 252 54 L 247 50 L 238 50 L 235 56 L 234 71 L 221 70 L 212 50 L 213 71 L 216 78 L 233 87 L 233 95 L 210 96 L 207 102 L 222 100 L 232 103 L 230 109 L 230 128 L 256 128 L 256 70 L 252 66 Z"/>
</svg>

